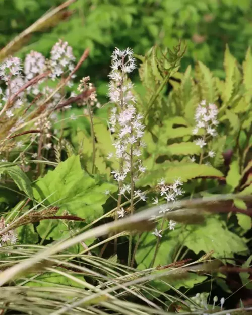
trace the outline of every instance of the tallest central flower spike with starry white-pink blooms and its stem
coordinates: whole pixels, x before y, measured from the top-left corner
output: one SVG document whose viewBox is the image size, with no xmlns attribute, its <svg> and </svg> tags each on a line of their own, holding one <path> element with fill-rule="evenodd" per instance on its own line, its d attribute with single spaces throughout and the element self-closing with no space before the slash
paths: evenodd
<svg viewBox="0 0 252 315">
<path fill-rule="evenodd" d="M 128 74 L 136 68 L 136 60 L 130 48 L 119 50 L 112 54 L 111 72 L 109 74 L 109 99 L 115 107 L 111 109 L 109 117 L 110 132 L 114 134 L 116 149 L 115 157 L 119 161 L 119 169 L 113 170 L 114 179 L 118 182 L 118 200 L 115 220 L 124 216 L 121 208 L 122 196 L 130 202 L 130 213 L 134 212 L 134 205 L 139 200 L 146 200 L 146 194 L 135 190 L 135 182 L 139 175 L 145 172 L 142 164 L 141 150 L 144 146 L 141 138 L 144 134 L 142 124 L 143 115 L 138 114 L 135 104 L 136 97 L 132 93 L 134 85 L 128 79 Z M 109 154 L 111 158 L 113 154 Z M 137 197 L 137 200 L 136 198 Z M 116 243 L 115 243 L 116 249 Z M 130 235 L 128 265 L 131 264 L 132 235 Z"/>
</svg>

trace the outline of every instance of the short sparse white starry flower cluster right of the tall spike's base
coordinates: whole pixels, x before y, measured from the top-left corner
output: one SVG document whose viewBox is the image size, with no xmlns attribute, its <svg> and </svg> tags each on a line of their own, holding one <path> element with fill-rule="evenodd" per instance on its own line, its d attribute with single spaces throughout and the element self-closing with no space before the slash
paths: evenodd
<svg viewBox="0 0 252 315">
<path fill-rule="evenodd" d="M 171 185 L 167 185 L 165 183 L 164 178 L 161 178 L 159 180 L 157 190 L 160 194 L 160 197 L 164 198 L 166 200 L 165 204 L 159 205 L 159 208 L 160 208 L 159 213 L 160 214 L 164 214 L 164 213 L 168 212 L 169 210 L 171 210 L 172 208 L 168 208 L 168 203 L 170 203 L 170 202 L 175 203 L 177 201 L 177 198 L 183 194 L 183 190 L 181 188 L 181 185 L 182 185 L 181 178 L 175 179 L 173 181 L 173 184 L 171 184 Z M 159 204 L 158 197 L 153 198 L 152 203 L 154 205 L 158 205 Z M 177 223 L 174 220 L 170 220 L 168 223 L 169 230 L 174 230 L 174 227 L 176 226 L 176 224 Z M 161 226 L 161 230 L 155 229 L 155 231 L 152 234 L 154 234 L 157 237 L 162 237 L 162 235 L 161 235 L 162 229 L 163 229 L 163 224 Z"/>
</svg>

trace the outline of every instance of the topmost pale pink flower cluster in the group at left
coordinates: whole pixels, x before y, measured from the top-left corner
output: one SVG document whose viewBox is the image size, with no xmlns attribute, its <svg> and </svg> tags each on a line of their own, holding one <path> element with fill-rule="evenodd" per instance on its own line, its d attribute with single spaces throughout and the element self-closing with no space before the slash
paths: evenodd
<svg viewBox="0 0 252 315">
<path fill-rule="evenodd" d="M 73 49 L 68 42 L 59 40 L 51 49 L 51 78 L 55 80 L 74 69 Z"/>
</svg>

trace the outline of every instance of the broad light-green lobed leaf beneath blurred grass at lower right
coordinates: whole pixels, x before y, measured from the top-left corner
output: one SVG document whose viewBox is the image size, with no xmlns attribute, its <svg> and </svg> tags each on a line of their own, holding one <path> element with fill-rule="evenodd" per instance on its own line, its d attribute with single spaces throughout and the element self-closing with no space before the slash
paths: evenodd
<svg viewBox="0 0 252 315">
<path fill-rule="evenodd" d="M 214 257 L 232 257 L 234 253 L 248 250 L 244 240 L 230 232 L 218 216 L 206 218 L 203 225 L 188 225 L 181 229 L 179 239 L 196 254 L 214 250 Z"/>
</svg>

